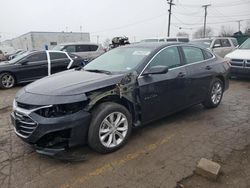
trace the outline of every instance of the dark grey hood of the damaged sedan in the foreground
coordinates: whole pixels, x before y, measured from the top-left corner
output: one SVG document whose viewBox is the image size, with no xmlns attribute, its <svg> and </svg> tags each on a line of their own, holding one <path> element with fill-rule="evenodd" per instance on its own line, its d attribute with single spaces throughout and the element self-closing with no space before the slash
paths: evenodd
<svg viewBox="0 0 250 188">
<path fill-rule="evenodd" d="M 69 70 L 45 77 L 25 87 L 28 93 L 39 95 L 78 95 L 119 83 L 122 75 L 107 75 Z"/>
</svg>

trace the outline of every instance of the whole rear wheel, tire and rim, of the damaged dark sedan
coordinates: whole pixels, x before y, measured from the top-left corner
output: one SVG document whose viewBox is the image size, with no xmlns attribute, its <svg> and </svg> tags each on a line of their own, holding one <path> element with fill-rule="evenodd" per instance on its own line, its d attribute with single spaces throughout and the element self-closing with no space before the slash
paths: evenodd
<svg viewBox="0 0 250 188">
<path fill-rule="evenodd" d="M 224 88 L 223 82 L 220 79 L 218 78 L 213 79 L 213 81 L 211 82 L 210 89 L 208 91 L 208 95 L 202 104 L 206 108 L 217 107 L 220 104 L 221 99 L 223 97 L 223 92 L 224 92 L 223 88 Z"/>
</svg>

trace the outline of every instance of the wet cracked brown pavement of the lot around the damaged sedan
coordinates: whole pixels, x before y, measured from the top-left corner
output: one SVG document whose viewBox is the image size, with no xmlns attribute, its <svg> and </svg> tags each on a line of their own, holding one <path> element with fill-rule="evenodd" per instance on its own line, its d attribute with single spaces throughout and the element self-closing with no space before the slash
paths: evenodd
<svg viewBox="0 0 250 188">
<path fill-rule="evenodd" d="M 197 105 L 135 129 L 127 145 L 115 153 L 101 155 L 88 147 L 76 148 L 70 154 L 84 159 L 79 162 L 39 155 L 17 138 L 9 114 L 18 89 L 0 90 L 1 188 L 172 188 L 190 176 L 185 186 L 250 185 L 249 80 L 232 80 L 216 109 Z M 221 161 L 223 174 L 217 183 L 192 176 L 202 157 Z"/>
</svg>

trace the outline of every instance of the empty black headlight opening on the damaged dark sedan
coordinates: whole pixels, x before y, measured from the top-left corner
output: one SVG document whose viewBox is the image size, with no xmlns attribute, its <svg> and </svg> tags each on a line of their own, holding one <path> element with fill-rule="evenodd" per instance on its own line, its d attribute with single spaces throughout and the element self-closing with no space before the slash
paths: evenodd
<svg viewBox="0 0 250 188">
<path fill-rule="evenodd" d="M 74 114 L 83 110 L 85 103 L 77 102 L 70 104 L 57 104 L 48 108 L 42 108 L 36 111 L 36 113 L 42 117 L 53 118 L 53 117 L 61 117 L 65 115 Z"/>
</svg>

